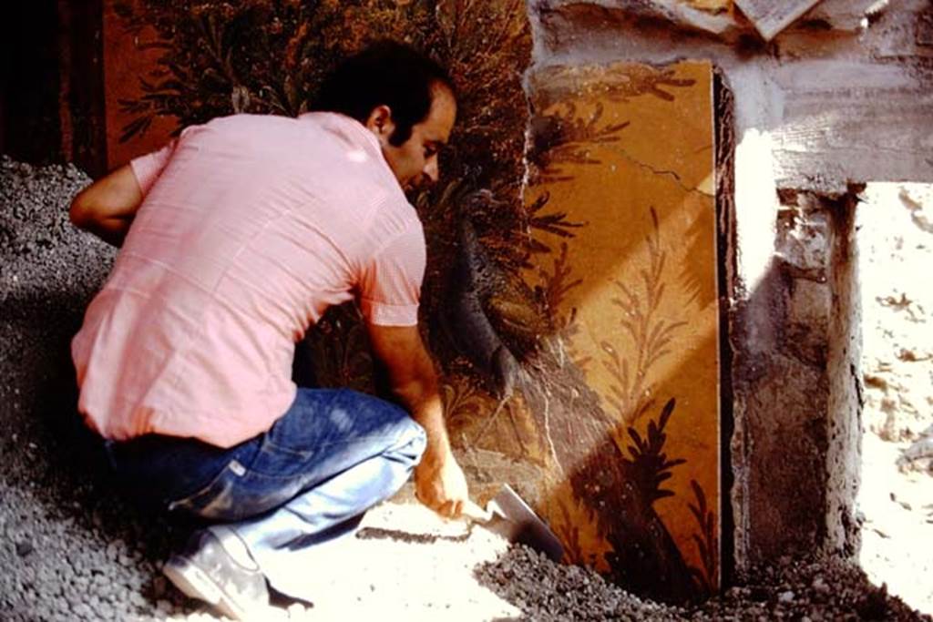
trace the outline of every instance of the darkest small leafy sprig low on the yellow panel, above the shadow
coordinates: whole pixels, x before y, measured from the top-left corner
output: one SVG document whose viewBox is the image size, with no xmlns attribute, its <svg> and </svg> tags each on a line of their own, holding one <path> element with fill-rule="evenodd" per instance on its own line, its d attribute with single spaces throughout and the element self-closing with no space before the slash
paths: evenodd
<svg viewBox="0 0 933 622">
<path fill-rule="evenodd" d="M 649 504 L 674 495 L 673 491 L 661 488 L 661 485 L 672 477 L 671 469 L 687 462 L 683 458 L 670 460 L 663 450 L 664 442 L 667 440 L 664 428 L 675 406 L 676 400 L 672 397 L 661 409 L 658 422 L 648 422 L 645 438 L 642 438 L 634 427 L 628 428 L 628 435 L 632 440 L 628 447 L 631 458 L 625 458 L 624 462 L 632 466 L 635 483 Z"/>
</svg>

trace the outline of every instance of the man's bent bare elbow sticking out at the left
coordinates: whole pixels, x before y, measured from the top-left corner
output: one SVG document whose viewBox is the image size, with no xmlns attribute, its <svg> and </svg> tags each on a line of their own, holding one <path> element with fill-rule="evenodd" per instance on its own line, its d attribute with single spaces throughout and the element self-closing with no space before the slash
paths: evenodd
<svg viewBox="0 0 933 622">
<path fill-rule="evenodd" d="M 127 164 L 81 190 L 68 215 L 76 227 L 120 246 L 142 202 L 143 191 Z"/>
</svg>

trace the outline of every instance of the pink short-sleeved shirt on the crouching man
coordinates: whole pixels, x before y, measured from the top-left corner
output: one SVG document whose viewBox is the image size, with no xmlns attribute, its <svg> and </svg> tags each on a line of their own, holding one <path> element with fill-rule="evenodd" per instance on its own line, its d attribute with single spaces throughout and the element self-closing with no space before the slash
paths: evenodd
<svg viewBox="0 0 933 622">
<path fill-rule="evenodd" d="M 330 305 L 417 324 L 424 231 L 354 119 L 218 118 L 132 170 L 145 199 L 72 341 L 104 437 L 230 447 L 285 413 L 294 344 Z"/>
</svg>

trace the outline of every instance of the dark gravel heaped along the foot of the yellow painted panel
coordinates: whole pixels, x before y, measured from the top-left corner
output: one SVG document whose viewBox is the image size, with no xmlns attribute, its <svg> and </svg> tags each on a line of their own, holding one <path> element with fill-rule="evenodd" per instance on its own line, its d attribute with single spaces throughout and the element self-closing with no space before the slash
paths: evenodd
<svg viewBox="0 0 933 622">
<path fill-rule="evenodd" d="M 576 566 L 550 563 L 523 546 L 480 567 L 480 583 L 523 612 L 558 620 L 929 620 L 851 564 L 780 560 L 754 570 L 716 598 L 681 607 L 642 601 Z"/>
</svg>

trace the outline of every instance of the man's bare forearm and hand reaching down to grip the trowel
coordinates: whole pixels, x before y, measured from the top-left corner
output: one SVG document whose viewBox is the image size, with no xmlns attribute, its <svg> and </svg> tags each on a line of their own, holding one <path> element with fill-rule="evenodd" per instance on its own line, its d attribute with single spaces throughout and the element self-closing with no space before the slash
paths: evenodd
<svg viewBox="0 0 933 622">
<path fill-rule="evenodd" d="M 388 367 L 393 391 L 427 433 L 427 449 L 414 474 L 418 498 L 442 516 L 460 516 L 467 498 L 466 477 L 451 451 L 438 376 L 418 327 L 369 325 L 369 338 Z"/>
</svg>

